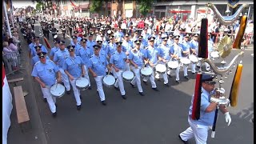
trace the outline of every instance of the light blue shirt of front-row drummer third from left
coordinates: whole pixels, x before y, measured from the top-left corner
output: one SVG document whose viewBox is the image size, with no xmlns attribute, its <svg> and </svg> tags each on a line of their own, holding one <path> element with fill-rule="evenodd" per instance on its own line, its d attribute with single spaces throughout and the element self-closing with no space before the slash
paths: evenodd
<svg viewBox="0 0 256 144">
<path fill-rule="evenodd" d="M 94 70 L 94 73 L 98 76 L 105 76 L 106 75 L 106 66 L 109 62 L 106 61 L 106 57 L 99 54 L 96 56 L 95 54 L 90 58 L 90 62 L 88 68 Z"/>
</svg>

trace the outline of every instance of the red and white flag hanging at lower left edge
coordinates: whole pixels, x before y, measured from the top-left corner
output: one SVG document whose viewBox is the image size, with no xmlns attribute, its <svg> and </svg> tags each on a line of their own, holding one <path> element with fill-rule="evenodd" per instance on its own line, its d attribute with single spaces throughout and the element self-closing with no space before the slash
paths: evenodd
<svg viewBox="0 0 256 144">
<path fill-rule="evenodd" d="M 10 113 L 13 109 L 12 95 L 6 79 L 5 68 L 2 64 L 2 143 L 7 143 L 7 134 L 10 127 Z"/>
</svg>

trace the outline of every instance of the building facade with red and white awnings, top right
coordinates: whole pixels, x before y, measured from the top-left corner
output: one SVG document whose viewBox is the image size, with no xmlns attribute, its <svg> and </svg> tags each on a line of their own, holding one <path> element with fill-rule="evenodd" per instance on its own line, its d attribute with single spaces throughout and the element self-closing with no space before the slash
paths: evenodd
<svg viewBox="0 0 256 144">
<path fill-rule="evenodd" d="M 197 1 L 197 0 L 186 0 L 186 1 L 170 1 L 170 0 L 157 0 L 153 5 L 153 15 L 157 18 L 162 17 L 176 17 L 186 20 L 187 18 L 202 18 L 206 15 L 214 16 L 212 10 L 206 7 L 206 3 L 209 1 Z M 211 1 L 220 14 L 225 15 L 226 10 L 230 10 L 230 14 L 234 14 L 242 4 L 248 4 L 249 7 L 242 11 L 242 14 L 249 14 L 249 18 L 254 17 L 254 2 L 240 1 L 238 6 L 234 9 L 227 6 L 227 1 Z"/>
</svg>

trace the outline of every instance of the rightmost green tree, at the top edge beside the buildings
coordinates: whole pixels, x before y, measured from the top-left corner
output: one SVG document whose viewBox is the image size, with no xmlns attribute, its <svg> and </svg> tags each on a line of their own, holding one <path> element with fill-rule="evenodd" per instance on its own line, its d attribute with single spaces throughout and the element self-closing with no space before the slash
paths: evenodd
<svg viewBox="0 0 256 144">
<path fill-rule="evenodd" d="M 138 10 L 145 17 L 152 8 L 154 0 L 138 0 Z"/>
</svg>

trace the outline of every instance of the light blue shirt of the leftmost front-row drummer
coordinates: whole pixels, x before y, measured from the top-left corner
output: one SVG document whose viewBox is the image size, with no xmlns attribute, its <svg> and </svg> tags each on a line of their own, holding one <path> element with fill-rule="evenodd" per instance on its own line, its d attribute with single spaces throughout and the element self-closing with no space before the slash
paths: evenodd
<svg viewBox="0 0 256 144">
<path fill-rule="evenodd" d="M 46 59 L 46 63 L 37 62 L 32 70 L 32 77 L 39 77 L 46 86 L 53 86 L 56 82 L 56 73 L 59 71 L 58 66 L 50 59 Z"/>
</svg>

